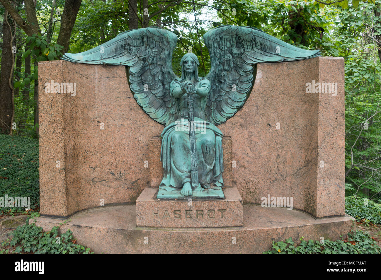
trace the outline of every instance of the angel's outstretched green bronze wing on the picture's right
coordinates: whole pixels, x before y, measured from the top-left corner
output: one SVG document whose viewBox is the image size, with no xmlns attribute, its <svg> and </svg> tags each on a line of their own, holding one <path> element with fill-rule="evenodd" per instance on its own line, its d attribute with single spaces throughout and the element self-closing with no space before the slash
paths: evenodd
<svg viewBox="0 0 381 280">
<path fill-rule="evenodd" d="M 285 43 L 254 27 L 219 26 L 204 34 L 210 53 L 212 85 L 205 114 L 209 122 L 226 122 L 245 103 L 253 86 L 253 65 L 320 56 Z"/>
</svg>

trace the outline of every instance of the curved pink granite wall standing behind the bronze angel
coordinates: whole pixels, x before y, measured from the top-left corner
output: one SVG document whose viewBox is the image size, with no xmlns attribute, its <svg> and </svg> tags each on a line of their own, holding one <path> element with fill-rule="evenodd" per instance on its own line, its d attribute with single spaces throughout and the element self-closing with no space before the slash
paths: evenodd
<svg viewBox="0 0 381 280">
<path fill-rule="evenodd" d="M 38 66 L 41 214 L 134 203 L 150 184 L 149 140 L 164 126 L 134 100 L 125 67 Z M 337 94 L 306 93 L 313 81 L 337 83 Z M 75 83 L 75 93 L 61 83 Z M 293 197 L 293 208 L 317 218 L 344 215 L 343 58 L 258 65 L 247 102 L 219 128 L 231 136 L 244 203 Z"/>
</svg>

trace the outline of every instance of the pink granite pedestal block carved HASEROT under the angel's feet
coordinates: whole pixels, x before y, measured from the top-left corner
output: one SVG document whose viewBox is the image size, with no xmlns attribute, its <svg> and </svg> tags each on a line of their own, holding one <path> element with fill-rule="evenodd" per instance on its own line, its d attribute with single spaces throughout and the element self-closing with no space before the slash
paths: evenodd
<svg viewBox="0 0 381 280">
<path fill-rule="evenodd" d="M 158 188 L 147 187 L 136 200 L 138 227 L 243 226 L 242 198 L 236 187 L 224 188 L 224 199 L 157 199 Z"/>
</svg>

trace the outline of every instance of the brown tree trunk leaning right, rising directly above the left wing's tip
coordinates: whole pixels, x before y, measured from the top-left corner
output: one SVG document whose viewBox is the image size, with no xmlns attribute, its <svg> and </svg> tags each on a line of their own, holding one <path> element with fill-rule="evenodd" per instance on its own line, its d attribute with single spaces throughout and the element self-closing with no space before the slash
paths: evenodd
<svg viewBox="0 0 381 280">
<path fill-rule="evenodd" d="M 74 27 L 75 19 L 81 6 L 82 0 L 67 0 L 65 1 L 64 10 L 61 16 L 61 27 L 57 38 L 57 44 L 63 46 L 61 53 L 67 53 L 71 32 Z"/>
</svg>

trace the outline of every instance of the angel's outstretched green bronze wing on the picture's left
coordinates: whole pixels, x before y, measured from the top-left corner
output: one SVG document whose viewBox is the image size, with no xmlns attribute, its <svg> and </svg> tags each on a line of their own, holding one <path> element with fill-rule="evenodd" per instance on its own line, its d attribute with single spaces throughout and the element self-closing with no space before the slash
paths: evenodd
<svg viewBox="0 0 381 280">
<path fill-rule="evenodd" d="M 171 98 L 172 52 L 177 37 L 157 27 L 133 29 L 83 53 L 66 53 L 62 59 L 130 67 L 130 88 L 136 102 L 155 121 L 168 124 L 176 119 L 178 108 Z"/>
</svg>

